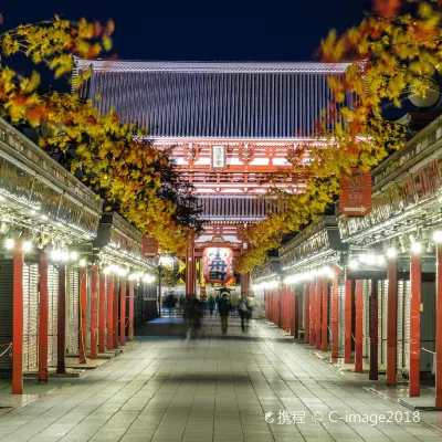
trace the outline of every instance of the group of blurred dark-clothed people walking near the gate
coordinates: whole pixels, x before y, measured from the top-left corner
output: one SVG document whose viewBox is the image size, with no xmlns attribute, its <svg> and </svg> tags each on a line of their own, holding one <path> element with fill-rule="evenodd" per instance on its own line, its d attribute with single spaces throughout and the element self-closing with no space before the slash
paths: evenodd
<svg viewBox="0 0 442 442">
<path fill-rule="evenodd" d="M 238 313 L 241 318 L 241 328 L 245 330 L 249 319 L 252 317 L 252 306 L 248 298 L 231 295 L 232 290 L 221 288 L 217 295 L 180 296 L 169 294 L 164 307 L 170 313 L 182 313 L 188 325 L 188 337 L 196 337 L 200 334 L 201 319 L 206 313 L 210 316 L 219 315 L 221 318 L 221 329 L 227 334 L 229 326 L 229 315 Z"/>
</svg>

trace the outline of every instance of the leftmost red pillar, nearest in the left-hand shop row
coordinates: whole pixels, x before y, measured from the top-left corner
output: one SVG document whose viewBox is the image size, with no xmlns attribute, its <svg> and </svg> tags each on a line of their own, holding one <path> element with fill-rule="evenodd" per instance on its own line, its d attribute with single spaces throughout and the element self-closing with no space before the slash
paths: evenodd
<svg viewBox="0 0 442 442">
<path fill-rule="evenodd" d="M 23 394 L 23 240 L 14 241 L 12 276 L 12 394 Z"/>
</svg>

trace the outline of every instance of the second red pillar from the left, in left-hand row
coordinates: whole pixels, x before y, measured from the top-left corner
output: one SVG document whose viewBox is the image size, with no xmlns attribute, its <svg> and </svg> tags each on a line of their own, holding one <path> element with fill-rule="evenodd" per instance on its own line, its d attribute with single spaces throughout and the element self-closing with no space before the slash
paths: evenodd
<svg viewBox="0 0 442 442">
<path fill-rule="evenodd" d="M 39 383 L 48 383 L 49 290 L 48 255 L 44 249 L 40 250 L 39 277 Z"/>
</svg>

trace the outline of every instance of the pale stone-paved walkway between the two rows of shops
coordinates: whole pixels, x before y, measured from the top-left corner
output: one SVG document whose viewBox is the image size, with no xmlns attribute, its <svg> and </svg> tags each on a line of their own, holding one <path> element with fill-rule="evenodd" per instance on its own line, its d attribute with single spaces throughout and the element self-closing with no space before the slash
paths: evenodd
<svg viewBox="0 0 442 442">
<path fill-rule="evenodd" d="M 83 379 L 0 418 L 0 440 L 441 441 L 427 423 L 440 415 L 423 422 L 265 322 L 242 333 L 233 319 L 219 336 L 213 318 L 202 339 L 140 338 Z M 381 419 L 392 422 L 364 422 Z"/>
</svg>

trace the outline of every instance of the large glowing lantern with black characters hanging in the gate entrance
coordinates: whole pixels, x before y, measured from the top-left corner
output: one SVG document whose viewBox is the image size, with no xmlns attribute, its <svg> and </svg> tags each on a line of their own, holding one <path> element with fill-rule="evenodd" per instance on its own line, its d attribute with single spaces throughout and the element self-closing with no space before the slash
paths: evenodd
<svg viewBox="0 0 442 442">
<path fill-rule="evenodd" d="M 207 283 L 225 284 L 233 276 L 232 249 L 204 249 L 202 252 L 202 266 Z"/>
</svg>

